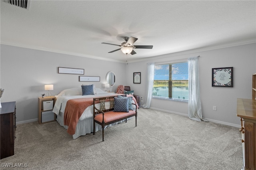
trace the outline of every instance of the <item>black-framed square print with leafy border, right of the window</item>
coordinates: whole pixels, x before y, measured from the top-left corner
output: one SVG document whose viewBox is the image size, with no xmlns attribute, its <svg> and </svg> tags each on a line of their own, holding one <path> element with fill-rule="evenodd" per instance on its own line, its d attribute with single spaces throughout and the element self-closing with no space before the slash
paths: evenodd
<svg viewBox="0 0 256 170">
<path fill-rule="evenodd" d="M 233 87 L 233 67 L 213 68 L 212 87 Z"/>
</svg>

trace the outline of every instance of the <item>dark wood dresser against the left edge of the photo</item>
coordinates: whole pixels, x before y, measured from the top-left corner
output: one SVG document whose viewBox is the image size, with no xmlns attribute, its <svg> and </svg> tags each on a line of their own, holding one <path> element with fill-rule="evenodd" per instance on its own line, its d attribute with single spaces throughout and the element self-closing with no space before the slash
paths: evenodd
<svg viewBox="0 0 256 170">
<path fill-rule="evenodd" d="M 16 102 L 1 103 L 0 108 L 0 158 L 14 155 L 16 130 Z"/>
</svg>

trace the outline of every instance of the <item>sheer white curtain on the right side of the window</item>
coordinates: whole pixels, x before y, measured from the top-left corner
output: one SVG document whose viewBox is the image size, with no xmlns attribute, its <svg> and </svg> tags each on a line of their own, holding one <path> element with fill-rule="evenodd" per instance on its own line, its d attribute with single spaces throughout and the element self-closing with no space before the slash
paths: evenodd
<svg viewBox="0 0 256 170">
<path fill-rule="evenodd" d="M 188 58 L 188 117 L 194 121 L 203 120 L 198 67 L 198 57 Z"/>
</svg>

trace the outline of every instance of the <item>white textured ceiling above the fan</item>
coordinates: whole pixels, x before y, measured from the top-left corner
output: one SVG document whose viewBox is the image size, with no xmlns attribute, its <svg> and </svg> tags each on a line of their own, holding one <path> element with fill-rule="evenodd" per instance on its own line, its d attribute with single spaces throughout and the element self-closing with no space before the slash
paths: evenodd
<svg viewBox="0 0 256 170">
<path fill-rule="evenodd" d="M 1 43 L 128 62 L 186 50 L 256 42 L 256 1 L 32 0 L 30 9 L 1 1 Z M 134 45 L 108 53 L 124 36 Z M 198 50 L 199 50 L 198 49 Z"/>
</svg>

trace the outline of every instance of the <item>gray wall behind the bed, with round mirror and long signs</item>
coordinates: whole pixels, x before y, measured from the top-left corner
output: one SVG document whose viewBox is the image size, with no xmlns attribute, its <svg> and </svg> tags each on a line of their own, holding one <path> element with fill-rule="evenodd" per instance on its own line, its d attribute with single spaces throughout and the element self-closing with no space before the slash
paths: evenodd
<svg viewBox="0 0 256 170">
<path fill-rule="evenodd" d="M 16 101 L 18 123 L 36 121 L 38 119 L 38 97 L 46 93 L 45 84 L 53 84 L 52 95 L 72 87 L 80 87 L 86 83 L 94 83 L 104 90 L 106 74 L 116 74 L 116 87 L 126 83 L 124 63 L 116 63 L 78 57 L 60 53 L 27 49 L 1 44 L 0 87 L 4 89 L 1 102 Z M 100 76 L 100 82 L 79 82 L 74 74 L 59 74 L 58 67 L 84 69 L 86 76 Z"/>
</svg>

